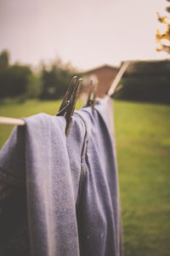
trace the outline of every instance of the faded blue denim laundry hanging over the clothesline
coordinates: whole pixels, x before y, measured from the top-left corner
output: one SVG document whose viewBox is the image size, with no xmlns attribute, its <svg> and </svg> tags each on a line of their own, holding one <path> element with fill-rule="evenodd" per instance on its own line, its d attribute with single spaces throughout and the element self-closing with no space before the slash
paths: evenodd
<svg viewBox="0 0 170 256">
<path fill-rule="evenodd" d="M 39 113 L 1 150 L 0 181 L 26 185 L 31 255 L 122 255 L 112 110 L 75 112 L 67 138 L 64 117 Z"/>
</svg>

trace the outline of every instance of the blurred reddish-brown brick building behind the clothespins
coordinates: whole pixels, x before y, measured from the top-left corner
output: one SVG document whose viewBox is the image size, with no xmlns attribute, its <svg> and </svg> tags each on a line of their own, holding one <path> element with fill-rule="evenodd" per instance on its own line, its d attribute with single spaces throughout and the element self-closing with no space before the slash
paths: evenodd
<svg viewBox="0 0 170 256">
<path fill-rule="evenodd" d="M 97 96 L 105 96 L 105 92 L 110 88 L 112 82 L 116 78 L 116 74 L 118 73 L 118 71 L 119 67 L 104 65 L 102 67 L 96 67 L 83 73 L 83 90 L 81 93 L 81 97 L 87 97 L 90 80 L 93 80 L 94 84 L 98 83 Z"/>
</svg>

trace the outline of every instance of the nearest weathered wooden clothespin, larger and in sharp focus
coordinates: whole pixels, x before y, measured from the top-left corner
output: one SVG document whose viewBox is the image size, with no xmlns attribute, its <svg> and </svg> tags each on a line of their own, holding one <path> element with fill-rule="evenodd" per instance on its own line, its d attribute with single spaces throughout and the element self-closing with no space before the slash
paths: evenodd
<svg viewBox="0 0 170 256">
<path fill-rule="evenodd" d="M 66 128 L 65 128 L 66 137 L 68 137 L 69 131 L 71 129 L 72 115 L 76 107 L 77 94 L 78 94 L 78 90 L 80 88 L 81 82 L 82 82 L 82 79 L 77 80 L 77 76 L 73 77 L 73 79 L 71 80 L 71 84 L 69 85 L 69 88 L 65 93 L 63 102 L 61 103 L 61 106 L 59 108 L 59 113 L 56 114 L 57 116 L 62 115 L 66 119 Z"/>
</svg>

